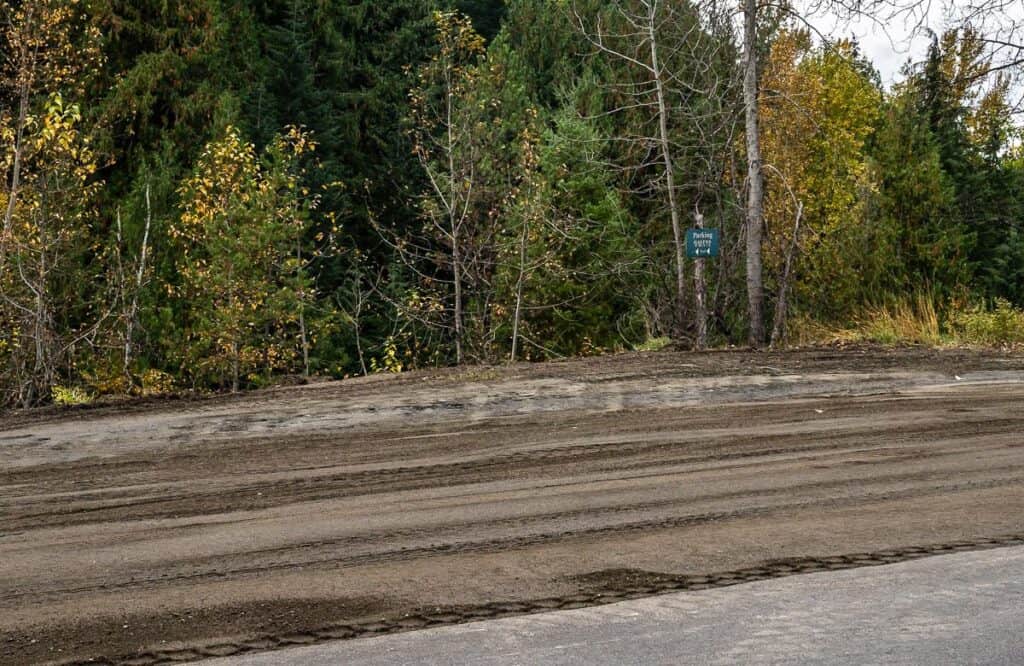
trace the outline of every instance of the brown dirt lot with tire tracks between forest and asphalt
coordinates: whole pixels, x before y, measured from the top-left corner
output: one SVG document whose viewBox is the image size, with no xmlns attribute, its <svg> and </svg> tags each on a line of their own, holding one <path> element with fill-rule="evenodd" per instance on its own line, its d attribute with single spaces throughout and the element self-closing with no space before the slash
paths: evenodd
<svg viewBox="0 0 1024 666">
<path fill-rule="evenodd" d="M 172 663 L 1022 539 L 1013 353 L 633 353 L 8 413 L 0 663 Z"/>
</svg>

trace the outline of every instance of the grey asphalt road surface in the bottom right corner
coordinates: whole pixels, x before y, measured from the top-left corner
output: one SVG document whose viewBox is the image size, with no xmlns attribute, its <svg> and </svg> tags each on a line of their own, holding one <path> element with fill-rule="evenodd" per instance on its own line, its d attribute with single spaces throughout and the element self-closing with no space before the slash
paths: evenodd
<svg viewBox="0 0 1024 666">
<path fill-rule="evenodd" d="M 216 659 L 204 666 L 1024 664 L 1024 547 Z"/>
</svg>

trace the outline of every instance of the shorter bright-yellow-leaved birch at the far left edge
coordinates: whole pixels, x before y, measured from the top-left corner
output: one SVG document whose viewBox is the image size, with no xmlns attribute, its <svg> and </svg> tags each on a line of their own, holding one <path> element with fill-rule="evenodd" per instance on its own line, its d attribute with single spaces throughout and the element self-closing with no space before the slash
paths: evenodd
<svg viewBox="0 0 1024 666">
<path fill-rule="evenodd" d="M 23 145 L 27 168 L 0 272 L 0 317 L 13 338 L 9 398 L 25 407 L 50 400 L 70 352 L 95 333 L 102 317 L 86 311 L 92 323 L 76 326 L 79 318 L 72 316 L 85 306 L 78 281 L 94 278 L 78 269 L 95 220 L 98 188 L 81 120 L 78 106 L 54 94 L 33 118 L 31 138 Z"/>
</svg>

